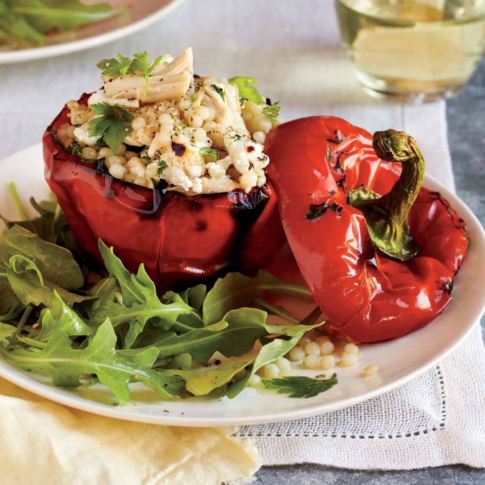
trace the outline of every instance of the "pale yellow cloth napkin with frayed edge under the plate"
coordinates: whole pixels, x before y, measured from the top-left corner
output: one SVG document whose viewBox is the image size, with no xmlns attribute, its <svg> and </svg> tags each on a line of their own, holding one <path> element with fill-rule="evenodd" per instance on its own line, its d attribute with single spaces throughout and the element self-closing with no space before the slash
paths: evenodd
<svg viewBox="0 0 485 485">
<path fill-rule="evenodd" d="M 230 428 L 115 420 L 51 402 L 0 378 L 1 479 L 9 485 L 246 484 L 253 445 Z"/>
</svg>

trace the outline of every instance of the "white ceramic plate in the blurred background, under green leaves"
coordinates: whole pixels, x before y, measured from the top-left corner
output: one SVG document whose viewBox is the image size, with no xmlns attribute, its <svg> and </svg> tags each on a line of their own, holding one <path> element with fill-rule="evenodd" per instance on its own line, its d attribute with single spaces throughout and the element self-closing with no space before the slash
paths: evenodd
<svg viewBox="0 0 485 485">
<path fill-rule="evenodd" d="M 101 1 L 101 0 L 100 0 Z M 106 1 L 106 0 L 104 0 Z M 0 64 L 25 62 L 90 49 L 145 29 L 175 10 L 184 0 L 110 0 L 113 7 L 131 8 L 119 16 L 82 26 L 63 37 L 59 44 L 32 49 L 0 50 Z M 85 3 L 95 3 L 85 0 Z"/>
</svg>

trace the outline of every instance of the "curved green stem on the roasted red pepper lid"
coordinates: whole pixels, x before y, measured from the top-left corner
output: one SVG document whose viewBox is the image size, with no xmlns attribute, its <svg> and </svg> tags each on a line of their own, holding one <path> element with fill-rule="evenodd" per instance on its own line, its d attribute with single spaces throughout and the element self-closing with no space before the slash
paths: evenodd
<svg viewBox="0 0 485 485">
<path fill-rule="evenodd" d="M 389 256 L 406 261 L 420 247 L 409 233 L 408 214 L 424 178 L 424 158 L 407 133 L 388 129 L 374 133 L 372 146 L 385 162 L 399 162 L 401 177 L 386 195 L 365 187 L 349 192 L 349 203 L 362 211 L 374 244 Z"/>
</svg>

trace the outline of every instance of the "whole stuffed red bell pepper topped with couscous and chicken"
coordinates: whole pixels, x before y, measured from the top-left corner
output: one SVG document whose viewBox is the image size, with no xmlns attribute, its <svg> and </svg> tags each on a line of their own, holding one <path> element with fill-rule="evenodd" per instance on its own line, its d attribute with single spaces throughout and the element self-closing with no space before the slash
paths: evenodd
<svg viewBox="0 0 485 485">
<path fill-rule="evenodd" d="M 192 49 L 98 63 L 103 88 L 70 101 L 43 138 L 45 176 L 80 245 L 114 246 L 160 291 L 251 273 L 285 236 L 264 169 L 279 123 L 252 78 L 193 73 Z"/>
</svg>

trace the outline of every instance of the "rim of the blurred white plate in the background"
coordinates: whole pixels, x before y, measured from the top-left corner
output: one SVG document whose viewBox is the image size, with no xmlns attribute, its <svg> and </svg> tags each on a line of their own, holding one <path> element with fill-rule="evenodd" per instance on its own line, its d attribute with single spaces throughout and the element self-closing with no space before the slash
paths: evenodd
<svg viewBox="0 0 485 485">
<path fill-rule="evenodd" d="M 56 57 L 63 54 L 69 54 L 71 52 L 91 49 L 102 44 L 113 42 L 113 40 L 120 39 L 121 37 L 125 37 L 129 34 L 138 32 L 139 30 L 148 27 L 160 18 L 170 14 L 184 1 L 185 0 L 169 0 L 168 3 L 162 8 L 158 9 L 152 14 L 141 18 L 140 20 L 129 23 L 124 27 L 120 27 L 106 33 L 93 35 L 85 39 L 75 40 L 72 42 L 64 42 L 62 44 L 56 44 L 53 46 L 0 52 L 0 64 L 13 64 L 17 62 L 20 63 L 37 59 L 45 59 L 46 57 Z"/>
</svg>

